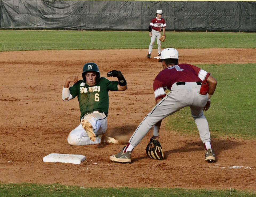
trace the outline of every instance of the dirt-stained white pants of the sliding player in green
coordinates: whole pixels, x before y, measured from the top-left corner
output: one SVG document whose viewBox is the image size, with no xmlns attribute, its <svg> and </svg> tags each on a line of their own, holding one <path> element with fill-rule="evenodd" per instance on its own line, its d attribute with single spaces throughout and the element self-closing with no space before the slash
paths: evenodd
<svg viewBox="0 0 256 197">
<path fill-rule="evenodd" d="M 86 119 L 88 122 L 90 122 L 96 136 L 102 135 L 107 130 L 107 117 L 105 113 L 99 113 L 97 111 L 85 115 L 82 119 Z M 72 146 L 100 144 L 101 138 L 97 137 L 94 142 L 91 141 L 80 123 L 77 128 L 70 132 L 69 136 L 67 137 L 67 142 Z"/>
</svg>

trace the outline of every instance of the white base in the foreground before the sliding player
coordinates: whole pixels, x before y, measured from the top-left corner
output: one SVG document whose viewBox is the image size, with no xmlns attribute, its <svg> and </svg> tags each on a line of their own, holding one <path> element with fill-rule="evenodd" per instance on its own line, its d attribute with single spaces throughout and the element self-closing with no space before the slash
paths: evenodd
<svg viewBox="0 0 256 197">
<path fill-rule="evenodd" d="M 70 154 L 59 154 L 51 153 L 43 157 L 44 162 L 62 162 L 71 164 L 81 164 L 81 161 L 85 160 L 84 155 L 70 155 Z"/>
</svg>

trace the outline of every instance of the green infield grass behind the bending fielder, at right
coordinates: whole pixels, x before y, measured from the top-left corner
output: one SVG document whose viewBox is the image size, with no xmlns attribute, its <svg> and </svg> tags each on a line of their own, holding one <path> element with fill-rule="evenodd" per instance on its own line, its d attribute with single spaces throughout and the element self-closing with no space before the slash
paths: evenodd
<svg viewBox="0 0 256 197">
<path fill-rule="evenodd" d="M 200 65 L 211 72 L 218 84 L 211 106 L 204 112 L 211 136 L 256 137 L 256 64 Z M 190 108 L 167 117 L 169 130 L 198 135 Z"/>
</svg>

